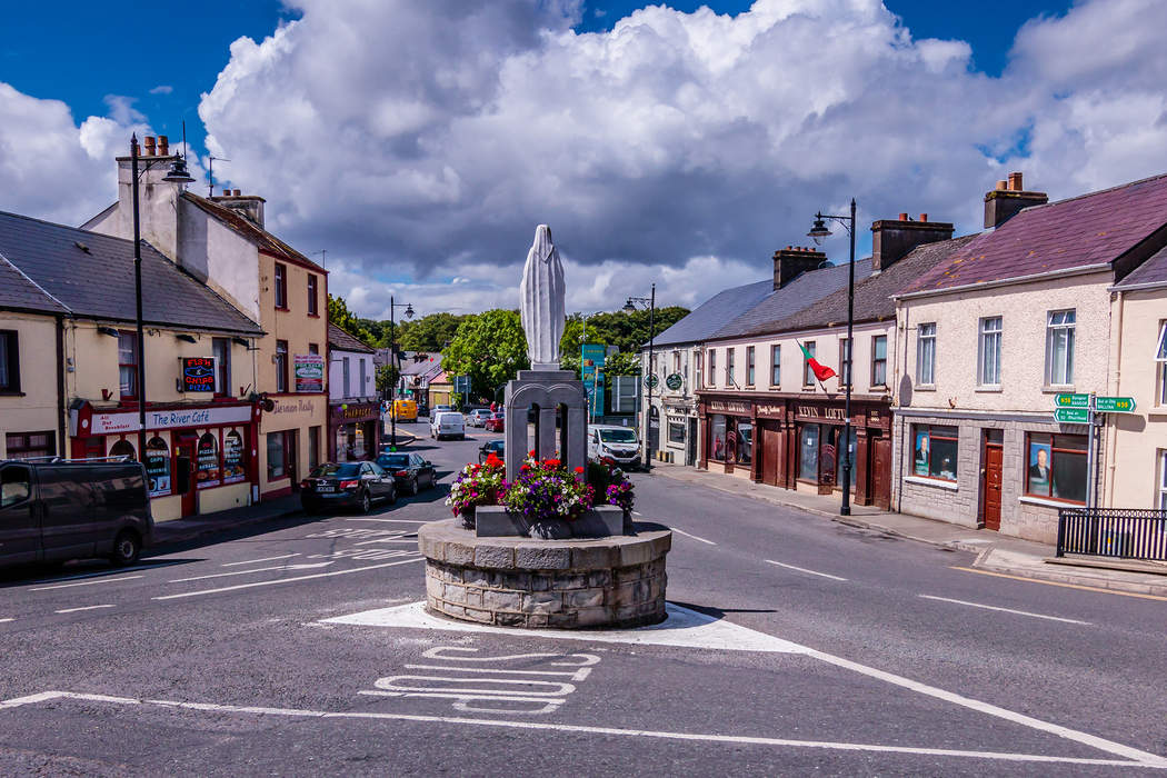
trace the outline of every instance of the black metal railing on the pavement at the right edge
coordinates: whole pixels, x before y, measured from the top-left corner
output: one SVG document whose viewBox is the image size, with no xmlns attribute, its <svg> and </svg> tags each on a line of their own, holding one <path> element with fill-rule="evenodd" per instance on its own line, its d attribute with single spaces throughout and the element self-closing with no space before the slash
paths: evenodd
<svg viewBox="0 0 1167 778">
<path fill-rule="evenodd" d="M 1063 507 L 1057 511 L 1057 555 L 1065 554 L 1167 562 L 1167 511 Z"/>
</svg>

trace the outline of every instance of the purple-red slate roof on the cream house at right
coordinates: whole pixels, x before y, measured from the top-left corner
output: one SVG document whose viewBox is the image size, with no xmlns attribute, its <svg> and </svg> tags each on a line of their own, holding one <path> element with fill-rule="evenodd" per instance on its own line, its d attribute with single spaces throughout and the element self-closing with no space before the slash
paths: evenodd
<svg viewBox="0 0 1167 778">
<path fill-rule="evenodd" d="M 1104 265 L 1167 224 L 1167 174 L 1035 205 L 980 233 L 904 293 Z"/>
</svg>

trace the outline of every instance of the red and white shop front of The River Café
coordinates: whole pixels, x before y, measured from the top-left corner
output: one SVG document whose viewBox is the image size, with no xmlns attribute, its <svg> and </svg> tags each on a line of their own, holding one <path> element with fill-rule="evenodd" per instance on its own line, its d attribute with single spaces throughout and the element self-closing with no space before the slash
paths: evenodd
<svg viewBox="0 0 1167 778">
<path fill-rule="evenodd" d="M 250 402 L 152 407 L 146 450 L 139 453 L 137 411 L 99 411 L 85 402 L 70 411 L 71 456 L 142 462 L 155 521 L 214 513 L 257 497 L 258 418 Z"/>
</svg>

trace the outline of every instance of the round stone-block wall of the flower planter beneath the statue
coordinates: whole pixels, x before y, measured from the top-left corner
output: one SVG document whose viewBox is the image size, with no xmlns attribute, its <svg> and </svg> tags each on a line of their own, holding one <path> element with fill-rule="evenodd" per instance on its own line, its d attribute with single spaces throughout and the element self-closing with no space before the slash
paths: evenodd
<svg viewBox="0 0 1167 778">
<path fill-rule="evenodd" d="M 658 526 L 658 525 L 652 525 Z M 456 519 L 418 531 L 428 610 L 522 628 L 629 628 L 665 617 L 672 532 L 591 540 L 476 538 Z"/>
</svg>

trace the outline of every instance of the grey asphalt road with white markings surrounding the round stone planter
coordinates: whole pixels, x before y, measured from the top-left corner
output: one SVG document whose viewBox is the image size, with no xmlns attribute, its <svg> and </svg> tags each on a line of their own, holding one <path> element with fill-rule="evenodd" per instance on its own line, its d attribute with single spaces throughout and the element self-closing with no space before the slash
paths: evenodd
<svg viewBox="0 0 1167 778">
<path fill-rule="evenodd" d="M 635 481 L 641 518 L 677 531 L 665 626 L 700 629 L 434 629 L 415 532 L 497 437 L 471 435 L 418 441 L 439 488 L 368 517 L 7 574 L 0 772 L 1167 769 L 1167 602 L 984 575 L 662 476 Z"/>
</svg>

